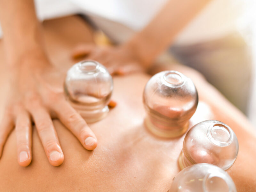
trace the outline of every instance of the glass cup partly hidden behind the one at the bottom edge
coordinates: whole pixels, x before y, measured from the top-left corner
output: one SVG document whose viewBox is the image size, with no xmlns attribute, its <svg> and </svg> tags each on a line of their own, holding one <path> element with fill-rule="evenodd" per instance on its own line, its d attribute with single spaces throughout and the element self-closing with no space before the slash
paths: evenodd
<svg viewBox="0 0 256 192">
<path fill-rule="evenodd" d="M 181 169 L 208 163 L 227 170 L 236 161 L 237 154 L 238 140 L 233 130 L 220 121 L 207 120 L 187 132 L 178 161 Z"/>
</svg>

